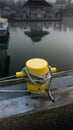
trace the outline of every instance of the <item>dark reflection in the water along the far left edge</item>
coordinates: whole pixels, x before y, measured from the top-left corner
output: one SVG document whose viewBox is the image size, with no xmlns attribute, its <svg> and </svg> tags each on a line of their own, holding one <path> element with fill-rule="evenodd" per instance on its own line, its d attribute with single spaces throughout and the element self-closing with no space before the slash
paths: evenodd
<svg viewBox="0 0 73 130">
<path fill-rule="evenodd" d="M 8 75 L 10 56 L 7 54 L 9 34 L 6 39 L 0 38 L 0 77 Z"/>
</svg>

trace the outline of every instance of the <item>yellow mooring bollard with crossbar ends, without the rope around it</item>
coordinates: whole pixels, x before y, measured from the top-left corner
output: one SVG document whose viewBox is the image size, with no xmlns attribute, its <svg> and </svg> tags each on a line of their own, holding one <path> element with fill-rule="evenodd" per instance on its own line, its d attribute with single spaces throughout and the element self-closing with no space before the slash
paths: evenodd
<svg viewBox="0 0 73 130">
<path fill-rule="evenodd" d="M 31 74 L 35 74 L 37 76 L 45 76 L 46 73 L 49 71 L 49 65 L 48 62 L 41 58 L 33 58 L 26 62 L 26 69 Z M 56 72 L 56 68 L 51 69 L 52 72 Z M 26 76 L 24 72 L 16 72 L 16 77 L 24 77 Z M 45 92 L 47 83 L 43 83 L 41 85 L 35 85 L 32 83 L 27 82 L 27 90 L 29 90 L 32 93 L 40 94 Z"/>
</svg>

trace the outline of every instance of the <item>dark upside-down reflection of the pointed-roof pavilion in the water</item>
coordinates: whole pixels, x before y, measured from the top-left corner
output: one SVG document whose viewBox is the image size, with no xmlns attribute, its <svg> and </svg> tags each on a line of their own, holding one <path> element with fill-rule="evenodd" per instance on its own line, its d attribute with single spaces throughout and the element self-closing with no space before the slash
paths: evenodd
<svg viewBox="0 0 73 130">
<path fill-rule="evenodd" d="M 43 30 L 43 24 L 42 22 L 31 22 L 30 23 L 30 30 L 24 31 L 24 33 L 31 38 L 31 40 L 34 42 L 40 42 L 42 40 L 42 37 L 49 34 L 48 31 Z"/>
</svg>

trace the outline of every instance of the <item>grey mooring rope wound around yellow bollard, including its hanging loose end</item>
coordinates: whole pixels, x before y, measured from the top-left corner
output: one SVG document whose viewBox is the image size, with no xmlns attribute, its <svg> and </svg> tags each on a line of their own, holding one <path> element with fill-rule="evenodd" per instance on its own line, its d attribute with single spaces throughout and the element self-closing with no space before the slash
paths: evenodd
<svg viewBox="0 0 73 130">
<path fill-rule="evenodd" d="M 51 91 L 50 91 L 50 86 L 51 86 L 50 84 L 51 84 L 51 81 L 52 81 L 51 66 L 49 66 L 48 72 L 43 76 L 38 76 L 38 75 L 29 73 L 29 71 L 26 69 L 26 67 L 23 68 L 21 71 L 23 71 L 26 74 L 26 77 L 24 77 L 26 82 L 28 81 L 28 82 L 30 82 L 32 84 L 37 85 L 37 86 L 39 86 L 40 84 L 46 83 L 47 86 L 46 86 L 45 91 L 48 93 L 51 100 L 54 101 L 54 97 L 52 96 Z M 15 77 L 16 77 L 16 75 L 1 78 L 0 81 L 3 82 L 5 80 L 7 80 L 7 79 L 11 79 L 11 78 L 15 78 Z M 40 89 L 40 90 L 42 90 L 42 89 Z M 7 91 L 8 92 L 12 92 L 12 91 L 15 92 L 16 90 L 7 90 Z M 18 90 L 18 91 L 20 91 L 20 90 Z M 32 90 L 32 92 L 36 92 L 36 91 L 39 92 L 39 90 Z M 1 90 L 1 92 L 4 92 L 4 90 Z"/>
</svg>

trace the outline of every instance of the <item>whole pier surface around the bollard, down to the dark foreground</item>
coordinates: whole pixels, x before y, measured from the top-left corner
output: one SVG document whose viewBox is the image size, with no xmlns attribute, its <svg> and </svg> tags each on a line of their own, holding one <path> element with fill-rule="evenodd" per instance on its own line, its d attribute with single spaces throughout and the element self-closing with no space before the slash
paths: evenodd
<svg viewBox="0 0 73 130">
<path fill-rule="evenodd" d="M 54 74 L 53 102 L 43 93 L 34 95 L 1 90 L 24 90 L 25 83 L 0 86 L 0 130 L 73 130 L 73 71 Z M 1 84 L 0 84 L 1 85 Z"/>
</svg>

